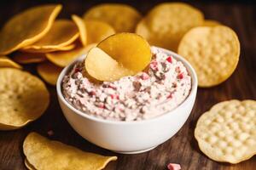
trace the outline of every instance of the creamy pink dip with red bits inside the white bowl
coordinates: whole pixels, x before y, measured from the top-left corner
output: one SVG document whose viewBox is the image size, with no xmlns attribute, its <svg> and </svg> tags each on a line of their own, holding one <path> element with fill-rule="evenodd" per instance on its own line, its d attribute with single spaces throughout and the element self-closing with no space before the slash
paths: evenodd
<svg viewBox="0 0 256 170">
<path fill-rule="evenodd" d="M 84 114 L 114 121 L 139 121 L 172 111 L 189 95 L 191 77 L 183 63 L 157 48 L 148 71 L 115 82 L 90 82 L 84 61 L 64 77 L 62 92 Z"/>
</svg>

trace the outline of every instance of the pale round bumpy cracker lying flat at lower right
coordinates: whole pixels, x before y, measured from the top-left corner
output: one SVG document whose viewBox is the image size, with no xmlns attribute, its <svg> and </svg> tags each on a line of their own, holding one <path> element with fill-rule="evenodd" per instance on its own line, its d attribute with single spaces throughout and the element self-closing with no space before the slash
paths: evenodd
<svg viewBox="0 0 256 170">
<path fill-rule="evenodd" d="M 201 151 L 215 161 L 239 163 L 256 154 L 256 101 L 213 105 L 195 127 Z"/>
</svg>

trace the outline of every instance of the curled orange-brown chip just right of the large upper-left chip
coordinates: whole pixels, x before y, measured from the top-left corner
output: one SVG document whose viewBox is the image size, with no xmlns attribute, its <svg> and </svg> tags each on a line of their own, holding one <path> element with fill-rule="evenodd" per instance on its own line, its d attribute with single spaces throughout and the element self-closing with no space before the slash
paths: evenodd
<svg viewBox="0 0 256 170">
<path fill-rule="evenodd" d="M 38 42 L 23 49 L 55 49 L 73 43 L 79 37 L 79 30 L 72 20 L 55 20 L 49 32 Z"/>
</svg>

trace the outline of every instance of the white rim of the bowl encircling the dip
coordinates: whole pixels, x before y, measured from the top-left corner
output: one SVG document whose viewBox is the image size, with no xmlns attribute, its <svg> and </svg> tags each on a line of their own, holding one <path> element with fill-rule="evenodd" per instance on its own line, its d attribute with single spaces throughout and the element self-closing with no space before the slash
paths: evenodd
<svg viewBox="0 0 256 170">
<path fill-rule="evenodd" d="M 181 61 L 183 63 L 183 65 L 185 65 L 187 70 L 189 71 L 189 74 L 190 74 L 190 77 L 191 77 L 191 89 L 190 89 L 190 92 L 189 92 L 189 96 L 186 99 L 184 99 L 181 104 L 177 105 L 177 107 L 174 108 L 172 111 L 167 111 L 166 113 L 164 113 L 160 116 L 155 116 L 155 117 L 150 118 L 150 119 L 145 119 L 145 120 L 140 120 L 140 121 L 129 121 L 129 122 L 106 120 L 106 119 L 102 119 L 102 118 L 99 118 L 99 117 L 96 117 L 96 116 L 91 116 L 89 114 L 84 113 L 83 111 L 79 111 L 78 109 L 73 107 L 73 105 L 69 104 L 66 99 L 64 99 L 64 96 L 63 96 L 62 90 L 61 90 L 61 84 L 62 84 L 63 77 L 65 77 L 67 75 L 67 72 L 72 69 L 72 67 L 75 63 L 77 63 L 78 61 L 81 61 L 82 59 L 85 58 L 85 56 L 84 56 L 85 54 L 82 54 L 79 58 L 73 60 L 72 63 L 67 65 L 61 71 L 61 74 L 59 75 L 57 83 L 56 83 L 56 90 L 57 90 L 58 99 L 59 100 L 61 99 L 61 102 L 64 103 L 64 105 L 66 105 L 70 110 L 72 110 L 74 113 L 78 114 L 79 116 L 83 116 L 84 118 L 90 119 L 90 121 L 102 122 L 102 123 L 107 123 L 107 124 L 122 124 L 122 125 L 141 124 L 141 123 L 145 123 L 145 122 L 158 121 L 160 119 L 164 119 L 166 116 L 174 114 L 173 112 L 177 111 L 178 108 L 181 108 L 181 107 L 183 107 L 183 105 L 187 105 L 189 103 L 189 100 L 191 100 L 193 98 L 192 94 L 195 94 L 195 96 L 196 96 L 198 80 L 197 80 L 197 77 L 196 77 L 195 69 L 192 67 L 192 65 L 189 64 L 188 60 L 184 59 L 179 54 L 176 54 L 176 53 L 172 52 L 171 50 L 168 50 L 168 49 L 165 49 L 165 48 L 159 48 L 159 47 L 155 47 L 155 46 L 151 46 L 151 48 L 158 48 L 160 51 L 162 51 L 166 54 L 172 55 L 172 57 Z"/>
</svg>

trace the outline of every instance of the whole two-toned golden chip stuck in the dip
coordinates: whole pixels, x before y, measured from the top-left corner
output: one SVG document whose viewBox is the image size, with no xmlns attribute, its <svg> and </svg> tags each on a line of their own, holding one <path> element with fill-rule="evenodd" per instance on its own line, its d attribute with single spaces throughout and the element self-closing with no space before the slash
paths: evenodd
<svg viewBox="0 0 256 170">
<path fill-rule="evenodd" d="M 117 33 L 91 48 L 84 64 L 91 77 L 115 81 L 135 75 L 150 63 L 151 50 L 143 37 L 134 33 Z"/>
</svg>

